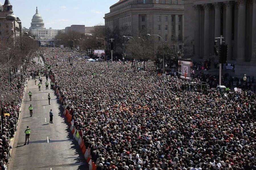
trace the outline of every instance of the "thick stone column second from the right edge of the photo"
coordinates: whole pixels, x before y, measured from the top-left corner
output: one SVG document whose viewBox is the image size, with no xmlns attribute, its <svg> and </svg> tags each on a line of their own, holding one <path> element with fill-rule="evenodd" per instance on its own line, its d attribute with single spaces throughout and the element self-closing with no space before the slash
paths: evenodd
<svg viewBox="0 0 256 170">
<path fill-rule="evenodd" d="M 237 1 L 237 61 L 245 61 L 245 23 L 246 23 L 246 4 L 245 0 Z"/>
</svg>

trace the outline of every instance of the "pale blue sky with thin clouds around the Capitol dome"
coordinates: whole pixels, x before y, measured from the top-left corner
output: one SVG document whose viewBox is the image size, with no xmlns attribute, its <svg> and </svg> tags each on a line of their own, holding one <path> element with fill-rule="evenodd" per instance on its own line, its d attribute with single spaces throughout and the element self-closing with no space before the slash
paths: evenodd
<svg viewBox="0 0 256 170">
<path fill-rule="evenodd" d="M 0 0 L 4 4 L 5 0 Z M 65 29 L 70 25 L 104 25 L 104 15 L 119 0 L 9 0 L 22 27 L 29 28 L 38 7 L 45 27 Z"/>
</svg>

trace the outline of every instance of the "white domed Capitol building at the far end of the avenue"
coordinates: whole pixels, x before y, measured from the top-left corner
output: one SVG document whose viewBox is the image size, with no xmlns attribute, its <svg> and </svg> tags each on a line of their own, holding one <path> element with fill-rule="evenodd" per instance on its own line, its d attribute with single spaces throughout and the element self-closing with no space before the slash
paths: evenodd
<svg viewBox="0 0 256 170">
<path fill-rule="evenodd" d="M 38 9 L 36 7 L 36 14 L 34 14 L 31 22 L 31 26 L 29 28 L 32 35 L 36 37 L 38 41 L 46 40 L 51 41 L 54 37 L 61 32 L 65 32 L 64 30 L 59 29 L 46 29 L 44 27 L 44 20 L 42 16 L 38 13 Z"/>
</svg>

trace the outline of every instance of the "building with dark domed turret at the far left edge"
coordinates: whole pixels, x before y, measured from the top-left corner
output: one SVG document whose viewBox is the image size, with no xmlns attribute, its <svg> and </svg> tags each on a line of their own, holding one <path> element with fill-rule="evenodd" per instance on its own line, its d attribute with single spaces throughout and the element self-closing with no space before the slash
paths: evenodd
<svg viewBox="0 0 256 170">
<path fill-rule="evenodd" d="M 22 36 L 21 21 L 13 14 L 13 6 L 9 0 L 4 5 L 0 3 L 0 38 L 7 39 L 13 36 L 14 39 Z"/>
</svg>

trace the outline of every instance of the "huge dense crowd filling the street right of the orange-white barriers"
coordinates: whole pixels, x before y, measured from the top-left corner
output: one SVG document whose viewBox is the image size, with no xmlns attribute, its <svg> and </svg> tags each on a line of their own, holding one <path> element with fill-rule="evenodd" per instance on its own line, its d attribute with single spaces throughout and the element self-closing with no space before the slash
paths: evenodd
<svg viewBox="0 0 256 170">
<path fill-rule="evenodd" d="M 130 63 L 40 53 L 98 170 L 256 169 L 255 94 L 184 92 Z"/>
</svg>

